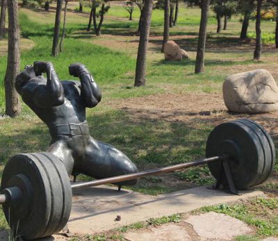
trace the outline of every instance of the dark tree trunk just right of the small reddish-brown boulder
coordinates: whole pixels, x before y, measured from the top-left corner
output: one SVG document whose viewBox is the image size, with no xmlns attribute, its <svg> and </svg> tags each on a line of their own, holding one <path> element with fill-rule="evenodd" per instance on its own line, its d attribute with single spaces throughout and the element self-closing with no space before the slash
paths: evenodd
<svg viewBox="0 0 278 241">
<path fill-rule="evenodd" d="M 195 74 L 204 72 L 204 52 L 206 49 L 206 26 L 208 24 L 209 3 L 210 0 L 202 1 L 202 13 L 201 13 L 201 22 L 199 26 L 199 38 L 198 38 Z"/>
</svg>

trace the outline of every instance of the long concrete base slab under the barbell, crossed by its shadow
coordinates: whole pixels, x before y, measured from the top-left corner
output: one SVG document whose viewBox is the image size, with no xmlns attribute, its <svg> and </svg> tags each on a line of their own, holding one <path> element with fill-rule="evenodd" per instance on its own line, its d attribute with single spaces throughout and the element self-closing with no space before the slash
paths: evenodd
<svg viewBox="0 0 278 241">
<path fill-rule="evenodd" d="M 150 217 L 186 213 L 202 206 L 263 195 L 263 192 L 247 191 L 237 196 L 200 187 L 154 197 L 131 190 L 117 192 L 117 189 L 111 186 L 85 188 L 74 190 L 72 214 L 68 226 L 72 233 L 93 234 L 145 221 Z"/>
</svg>

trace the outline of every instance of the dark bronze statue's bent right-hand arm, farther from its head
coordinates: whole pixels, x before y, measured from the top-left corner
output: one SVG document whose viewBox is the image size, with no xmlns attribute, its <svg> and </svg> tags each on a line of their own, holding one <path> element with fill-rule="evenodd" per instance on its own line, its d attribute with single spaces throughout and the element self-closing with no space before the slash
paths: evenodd
<svg viewBox="0 0 278 241">
<path fill-rule="evenodd" d="M 94 78 L 86 69 L 86 67 L 80 63 L 70 65 L 69 72 L 74 77 L 79 77 L 81 82 L 81 97 L 85 102 L 85 106 L 93 108 L 101 101 L 101 90 L 95 83 Z"/>
</svg>

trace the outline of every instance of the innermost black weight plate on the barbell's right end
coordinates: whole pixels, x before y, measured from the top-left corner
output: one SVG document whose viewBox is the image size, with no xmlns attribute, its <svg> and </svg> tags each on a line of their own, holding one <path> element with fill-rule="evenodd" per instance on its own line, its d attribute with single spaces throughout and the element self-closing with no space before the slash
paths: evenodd
<svg viewBox="0 0 278 241">
<path fill-rule="evenodd" d="M 238 190 L 256 185 L 263 174 L 264 155 L 256 133 L 240 122 L 226 122 L 216 126 L 206 142 L 206 157 L 229 156 L 229 167 Z M 213 176 L 218 180 L 222 165 L 208 164 Z M 227 186 L 227 180 L 222 184 Z"/>
</svg>

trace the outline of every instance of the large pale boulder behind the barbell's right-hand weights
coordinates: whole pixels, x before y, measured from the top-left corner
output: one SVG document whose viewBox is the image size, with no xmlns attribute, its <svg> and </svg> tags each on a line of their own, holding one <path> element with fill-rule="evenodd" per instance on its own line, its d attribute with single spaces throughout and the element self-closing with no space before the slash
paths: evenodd
<svg viewBox="0 0 278 241">
<path fill-rule="evenodd" d="M 227 108 L 235 113 L 268 113 L 278 110 L 278 88 L 265 69 L 233 74 L 223 83 Z"/>
</svg>

